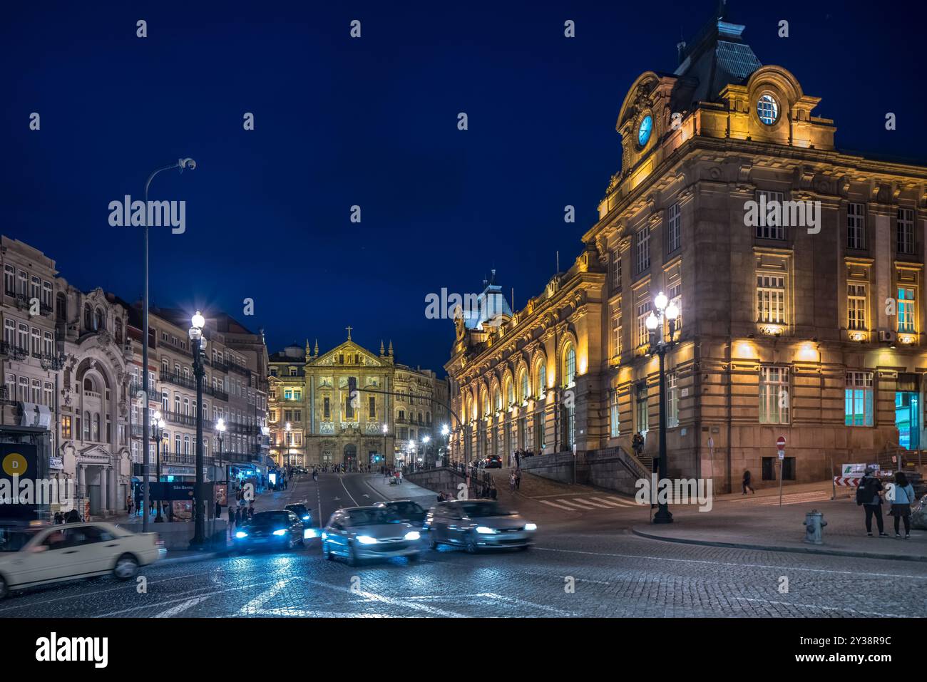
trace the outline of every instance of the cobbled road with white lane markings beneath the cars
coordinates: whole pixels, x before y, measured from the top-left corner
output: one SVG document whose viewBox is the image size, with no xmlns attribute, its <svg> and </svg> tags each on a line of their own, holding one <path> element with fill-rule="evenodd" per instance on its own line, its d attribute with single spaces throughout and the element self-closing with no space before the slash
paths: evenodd
<svg viewBox="0 0 927 682">
<path fill-rule="evenodd" d="M 322 474 L 258 507 L 305 500 L 318 523 L 379 499 L 363 474 Z M 679 545 L 630 535 L 640 510 L 603 505 L 542 521 L 537 509 L 537 546 L 527 552 L 423 546 L 417 563 L 351 568 L 326 561 L 316 539 L 290 552 L 146 567 L 145 590 L 110 578 L 34 588 L 0 601 L 0 618 L 927 615 L 921 562 Z"/>
</svg>

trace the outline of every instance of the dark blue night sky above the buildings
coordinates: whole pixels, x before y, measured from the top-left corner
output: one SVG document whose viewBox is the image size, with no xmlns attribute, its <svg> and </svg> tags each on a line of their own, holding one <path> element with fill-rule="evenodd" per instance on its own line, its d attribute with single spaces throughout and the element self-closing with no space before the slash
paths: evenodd
<svg viewBox="0 0 927 682">
<path fill-rule="evenodd" d="M 916 3 L 729 5 L 761 62 L 822 97 L 838 146 L 927 158 Z M 425 295 L 478 291 L 495 267 L 520 308 L 558 249 L 567 266 L 619 168 L 628 88 L 674 69 L 680 32 L 692 39 L 715 6 L 16 3 L 0 29 L 2 232 L 71 283 L 132 300 L 141 234 L 110 227 L 108 202 L 141 198 L 150 170 L 189 156 L 197 170 L 152 184 L 151 198 L 187 202 L 185 234 L 152 230 L 154 304 L 228 310 L 272 352 L 307 336 L 332 347 L 351 324 L 367 347 L 391 338 L 398 360 L 439 370 L 453 326 L 425 319 Z"/>
</svg>

